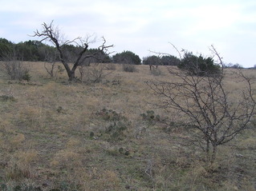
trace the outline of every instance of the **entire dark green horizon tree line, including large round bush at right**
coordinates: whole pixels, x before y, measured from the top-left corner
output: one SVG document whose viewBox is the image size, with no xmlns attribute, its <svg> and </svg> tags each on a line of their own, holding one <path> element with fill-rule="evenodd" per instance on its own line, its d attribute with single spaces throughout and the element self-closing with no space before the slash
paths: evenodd
<svg viewBox="0 0 256 191">
<path fill-rule="evenodd" d="M 77 54 L 81 51 L 82 47 L 75 46 L 73 44 L 65 44 L 62 47 L 64 57 L 68 62 L 75 62 Z M 83 61 L 84 65 L 89 65 L 91 62 L 97 62 L 100 58 L 101 62 L 108 63 L 120 63 L 129 65 L 156 65 L 156 66 L 178 66 L 180 69 L 189 70 L 190 73 L 195 73 L 191 63 L 197 63 L 197 68 L 200 70 L 201 74 L 205 70 L 211 70 L 213 73 L 218 71 L 217 66 L 214 65 L 213 59 L 203 58 L 201 55 L 193 55 L 191 52 L 186 52 L 184 58 L 177 58 L 173 55 L 163 55 L 163 56 L 148 56 L 144 57 L 142 60 L 140 57 L 129 50 L 124 50 L 122 53 L 117 53 L 110 57 L 104 52 L 99 52 L 97 49 L 89 49 L 86 54 L 94 54 L 97 52 L 96 58 L 88 58 Z M 10 56 L 11 55 L 11 56 Z M 6 59 L 17 59 L 20 61 L 30 61 L 30 62 L 59 62 L 59 51 L 56 50 L 54 46 L 49 46 L 40 41 L 26 41 L 26 42 L 10 42 L 6 38 L 0 38 L 0 61 Z M 189 64 L 190 63 L 190 64 Z M 225 65 L 228 68 L 242 68 L 238 64 Z M 189 69 L 190 68 L 190 69 Z"/>
</svg>

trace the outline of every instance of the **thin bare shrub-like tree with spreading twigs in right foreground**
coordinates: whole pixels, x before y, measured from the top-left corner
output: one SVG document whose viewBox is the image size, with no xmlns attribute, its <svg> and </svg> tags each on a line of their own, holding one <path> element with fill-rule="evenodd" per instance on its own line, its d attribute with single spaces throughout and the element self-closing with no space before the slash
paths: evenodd
<svg viewBox="0 0 256 191">
<path fill-rule="evenodd" d="M 213 46 L 211 50 L 223 68 L 220 55 Z M 171 82 L 147 84 L 161 98 L 162 107 L 175 109 L 185 115 L 187 121 L 182 123 L 188 128 L 197 129 L 197 135 L 199 132 L 201 136 L 193 141 L 200 143 L 207 161 L 212 164 L 217 146 L 233 140 L 255 116 L 254 79 L 246 77 L 242 70 L 235 72 L 235 78 L 242 83 L 242 87 L 233 94 L 227 88 L 225 70 L 202 77 L 170 67 L 169 74 L 173 76 Z"/>
</svg>

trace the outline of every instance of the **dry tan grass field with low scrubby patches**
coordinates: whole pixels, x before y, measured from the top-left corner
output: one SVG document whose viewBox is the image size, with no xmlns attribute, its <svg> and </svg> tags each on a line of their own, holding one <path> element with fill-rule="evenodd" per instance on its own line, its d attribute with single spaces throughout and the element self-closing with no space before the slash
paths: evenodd
<svg viewBox="0 0 256 191">
<path fill-rule="evenodd" d="M 164 66 L 156 76 L 116 65 L 87 84 L 26 64 L 30 82 L 0 73 L 0 190 L 256 190 L 254 125 L 220 147 L 209 173 L 186 129 L 151 120 L 177 117 L 156 107 L 145 83 L 171 80 Z M 230 71 L 227 87 L 236 90 Z"/>
</svg>

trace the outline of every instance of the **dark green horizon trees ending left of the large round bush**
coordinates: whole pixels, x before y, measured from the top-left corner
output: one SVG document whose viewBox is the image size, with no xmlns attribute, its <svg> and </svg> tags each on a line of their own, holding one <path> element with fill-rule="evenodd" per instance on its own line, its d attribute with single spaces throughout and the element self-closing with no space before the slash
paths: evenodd
<svg viewBox="0 0 256 191">
<path fill-rule="evenodd" d="M 74 46 L 72 44 L 66 44 L 62 47 L 64 56 L 69 62 L 74 62 L 76 55 L 81 51 L 80 46 Z M 92 54 L 96 52 L 96 49 L 90 49 L 87 54 Z M 47 62 L 47 61 L 59 61 L 59 52 L 54 46 L 49 46 L 40 41 L 26 41 L 26 42 L 10 42 L 6 38 L 0 38 L 0 61 L 6 60 L 12 55 L 17 60 L 30 61 L 30 62 Z M 140 57 L 129 50 L 124 50 L 122 53 L 117 53 L 110 57 L 104 52 L 100 53 L 100 57 L 103 62 L 113 62 L 120 64 L 132 64 L 132 65 L 163 65 L 163 66 L 177 66 L 180 59 L 172 56 L 165 55 L 162 57 L 149 56 L 140 59 Z M 87 62 L 96 62 L 94 58 L 90 60 L 85 60 Z"/>
</svg>

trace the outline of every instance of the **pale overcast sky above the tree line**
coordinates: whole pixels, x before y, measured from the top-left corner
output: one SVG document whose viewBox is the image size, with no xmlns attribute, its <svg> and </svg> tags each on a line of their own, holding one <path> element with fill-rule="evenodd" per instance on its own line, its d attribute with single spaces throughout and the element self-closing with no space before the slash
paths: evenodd
<svg viewBox="0 0 256 191">
<path fill-rule="evenodd" d="M 67 38 L 104 36 L 113 51 L 148 50 L 177 56 L 178 50 L 209 56 L 213 45 L 224 62 L 256 65 L 255 0 L 0 0 L 0 38 L 31 38 L 43 22 Z"/>
</svg>

